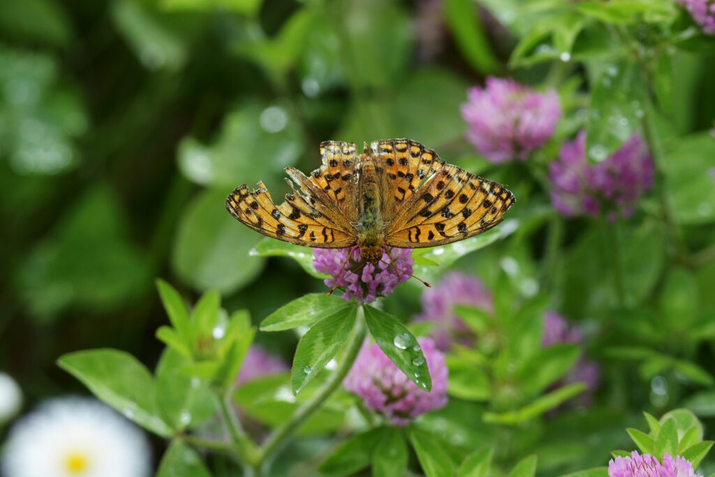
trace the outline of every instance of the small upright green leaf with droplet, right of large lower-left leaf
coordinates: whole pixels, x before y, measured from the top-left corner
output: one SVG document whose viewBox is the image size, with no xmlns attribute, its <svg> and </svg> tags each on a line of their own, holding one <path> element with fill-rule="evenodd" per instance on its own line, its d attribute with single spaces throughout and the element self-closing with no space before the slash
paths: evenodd
<svg viewBox="0 0 715 477">
<path fill-rule="evenodd" d="M 189 362 L 167 348 L 157 365 L 157 404 L 167 423 L 177 431 L 194 428 L 216 412 L 207 384 L 182 372 Z"/>
</svg>

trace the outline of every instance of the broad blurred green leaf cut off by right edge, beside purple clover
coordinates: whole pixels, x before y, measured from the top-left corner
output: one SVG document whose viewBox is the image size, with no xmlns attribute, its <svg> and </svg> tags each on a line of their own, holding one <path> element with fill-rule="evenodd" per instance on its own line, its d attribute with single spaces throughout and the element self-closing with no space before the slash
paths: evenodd
<svg viewBox="0 0 715 477">
<path fill-rule="evenodd" d="M 666 197 L 674 220 L 698 225 L 715 221 L 715 187 L 709 169 L 715 141 L 708 132 L 684 137 L 659 164 L 666 175 Z"/>
</svg>

